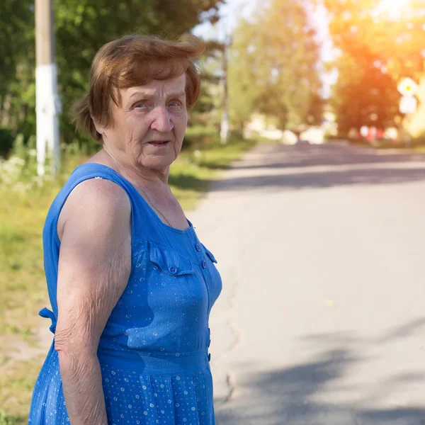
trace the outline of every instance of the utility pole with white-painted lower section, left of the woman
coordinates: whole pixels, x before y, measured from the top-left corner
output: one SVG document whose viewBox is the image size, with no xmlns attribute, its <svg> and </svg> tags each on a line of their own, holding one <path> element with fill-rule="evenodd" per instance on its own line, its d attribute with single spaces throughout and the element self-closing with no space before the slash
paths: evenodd
<svg viewBox="0 0 425 425">
<path fill-rule="evenodd" d="M 45 174 L 46 147 L 52 159 L 52 178 L 60 164 L 53 0 L 35 0 L 35 113 L 37 115 L 37 174 Z"/>
</svg>

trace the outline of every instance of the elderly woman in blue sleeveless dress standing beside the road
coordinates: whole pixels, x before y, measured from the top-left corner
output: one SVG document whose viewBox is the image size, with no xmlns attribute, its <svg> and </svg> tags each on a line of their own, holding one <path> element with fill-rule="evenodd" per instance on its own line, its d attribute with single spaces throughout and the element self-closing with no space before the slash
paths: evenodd
<svg viewBox="0 0 425 425">
<path fill-rule="evenodd" d="M 214 424 L 208 316 L 221 290 L 168 185 L 200 92 L 201 42 L 132 35 L 96 55 L 77 127 L 102 149 L 48 212 L 55 338 L 30 424 Z"/>
</svg>

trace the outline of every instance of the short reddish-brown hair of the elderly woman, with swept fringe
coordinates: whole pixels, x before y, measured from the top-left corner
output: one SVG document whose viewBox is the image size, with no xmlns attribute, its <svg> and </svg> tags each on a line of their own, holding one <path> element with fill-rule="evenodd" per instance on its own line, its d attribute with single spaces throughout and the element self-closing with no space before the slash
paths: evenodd
<svg viewBox="0 0 425 425">
<path fill-rule="evenodd" d="M 103 45 L 91 64 L 89 93 L 72 108 L 77 130 L 101 141 L 94 120 L 111 125 L 111 99 L 118 105 L 116 89 L 143 86 L 153 79 L 164 80 L 186 73 L 186 106 L 198 100 L 200 77 L 193 59 L 204 50 L 194 35 L 176 41 L 153 35 L 126 35 Z"/>
</svg>

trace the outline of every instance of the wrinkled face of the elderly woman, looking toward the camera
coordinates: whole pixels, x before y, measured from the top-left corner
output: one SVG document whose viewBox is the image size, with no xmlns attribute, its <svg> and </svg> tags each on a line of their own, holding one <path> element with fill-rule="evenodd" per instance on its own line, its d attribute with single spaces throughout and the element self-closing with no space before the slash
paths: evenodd
<svg viewBox="0 0 425 425">
<path fill-rule="evenodd" d="M 164 169 L 181 151 L 187 125 L 186 74 L 120 89 L 112 102 L 113 124 L 103 129 L 103 143 L 113 145 L 130 162 Z"/>
</svg>

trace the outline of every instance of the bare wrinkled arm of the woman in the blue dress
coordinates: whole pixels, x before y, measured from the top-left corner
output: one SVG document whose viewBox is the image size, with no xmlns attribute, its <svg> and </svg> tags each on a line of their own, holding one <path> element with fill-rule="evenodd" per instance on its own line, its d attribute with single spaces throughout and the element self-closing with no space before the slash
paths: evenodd
<svg viewBox="0 0 425 425">
<path fill-rule="evenodd" d="M 69 421 L 107 425 L 98 341 L 131 268 L 130 201 L 93 179 L 72 191 L 60 217 L 55 348 Z"/>
</svg>

